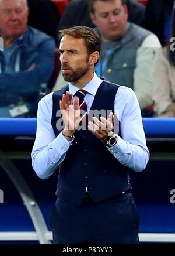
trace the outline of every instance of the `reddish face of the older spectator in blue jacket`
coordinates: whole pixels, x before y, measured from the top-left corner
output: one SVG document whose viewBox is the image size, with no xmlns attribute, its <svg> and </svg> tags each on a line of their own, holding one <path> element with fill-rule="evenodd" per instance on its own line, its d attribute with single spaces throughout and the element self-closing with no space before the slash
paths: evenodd
<svg viewBox="0 0 175 256">
<path fill-rule="evenodd" d="M 24 0 L 0 0 L 2 37 L 20 37 L 26 30 L 29 8 Z"/>
</svg>

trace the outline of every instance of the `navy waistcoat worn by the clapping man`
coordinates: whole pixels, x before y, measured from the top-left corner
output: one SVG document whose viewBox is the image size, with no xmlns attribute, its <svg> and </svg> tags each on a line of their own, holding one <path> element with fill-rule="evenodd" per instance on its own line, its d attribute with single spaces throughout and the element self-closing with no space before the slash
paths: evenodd
<svg viewBox="0 0 175 256">
<path fill-rule="evenodd" d="M 103 81 L 97 90 L 91 110 L 106 110 L 106 112 L 111 110 L 114 113 L 114 100 L 118 87 L 116 84 Z M 57 111 L 60 110 L 62 94 L 66 91 L 68 86 L 53 93 L 51 124 L 55 136 L 62 131 L 57 129 L 58 122 L 61 123 Z M 103 111 L 101 113 L 103 115 Z M 95 203 L 131 188 L 128 168 L 115 159 L 103 142 L 88 129 L 76 130 L 74 135 L 74 142 L 59 166 L 56 191 L 58 197 L 80 206 L 85 197 L 86 187 Z"/>
</svg>

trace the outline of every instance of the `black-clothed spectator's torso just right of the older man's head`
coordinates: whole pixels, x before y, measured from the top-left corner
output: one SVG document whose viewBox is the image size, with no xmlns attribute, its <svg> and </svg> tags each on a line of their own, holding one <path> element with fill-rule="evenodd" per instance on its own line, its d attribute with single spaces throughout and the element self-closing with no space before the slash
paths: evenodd
<svg viewBox="0 0 175 256">
<path fill-rule="evenodd" d="M 51 0 L 27 0 L 29 6 L 28 25 L 54 37 L 58 45 L 60 14 Z"/>
</svg>

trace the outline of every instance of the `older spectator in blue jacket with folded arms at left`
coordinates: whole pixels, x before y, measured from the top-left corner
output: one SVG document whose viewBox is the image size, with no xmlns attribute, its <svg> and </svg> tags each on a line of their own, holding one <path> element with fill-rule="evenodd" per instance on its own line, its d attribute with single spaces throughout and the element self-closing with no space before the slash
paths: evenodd
<svg viewBox="0 0 175 256">
<path fill-rule="evenodd" d="M 54 39 L 27 26 L 26 0 L 0 0 L 0 117 L 36 116 L 54 68 Z"/>
</svg>

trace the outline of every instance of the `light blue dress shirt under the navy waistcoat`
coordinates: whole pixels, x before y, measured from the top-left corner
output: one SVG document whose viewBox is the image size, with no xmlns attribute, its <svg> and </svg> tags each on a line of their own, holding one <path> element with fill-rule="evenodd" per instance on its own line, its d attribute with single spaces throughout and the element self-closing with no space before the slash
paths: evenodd
<svg viewBox="0 0 175 256">
<path fill-rule="evenodd" d="M 103 80 L 97 77 L 95 73 L 92 80 L 83 87 L 84 90 L 88 91 L 85 95 L 88 110 L 102 82 Z M 79 90 L 71 83 L 68 86 L 73 95 Z M 117 135 L 117 144 L 108 150 L 120 163 L 136 172 L 141 172 L 148 163 L 149 151 L 146 146 L 141 111 L 134 91 L 128 87 L 120 86 L 115 95 L 114 109 L 115 115 L 120 121 L 122 138 Z M 53 93 L 50 93 L 43 97 L 38 104 L 36 140 L 31 152 L 33 169 L 41 179 L 47 179 L 55 172 L 61 162 L 64 161 L 71 145 L 71 142 L 62 135 L 62 132 L 55 137 L 51 125 L 52 112 Z"/>
</svg>

